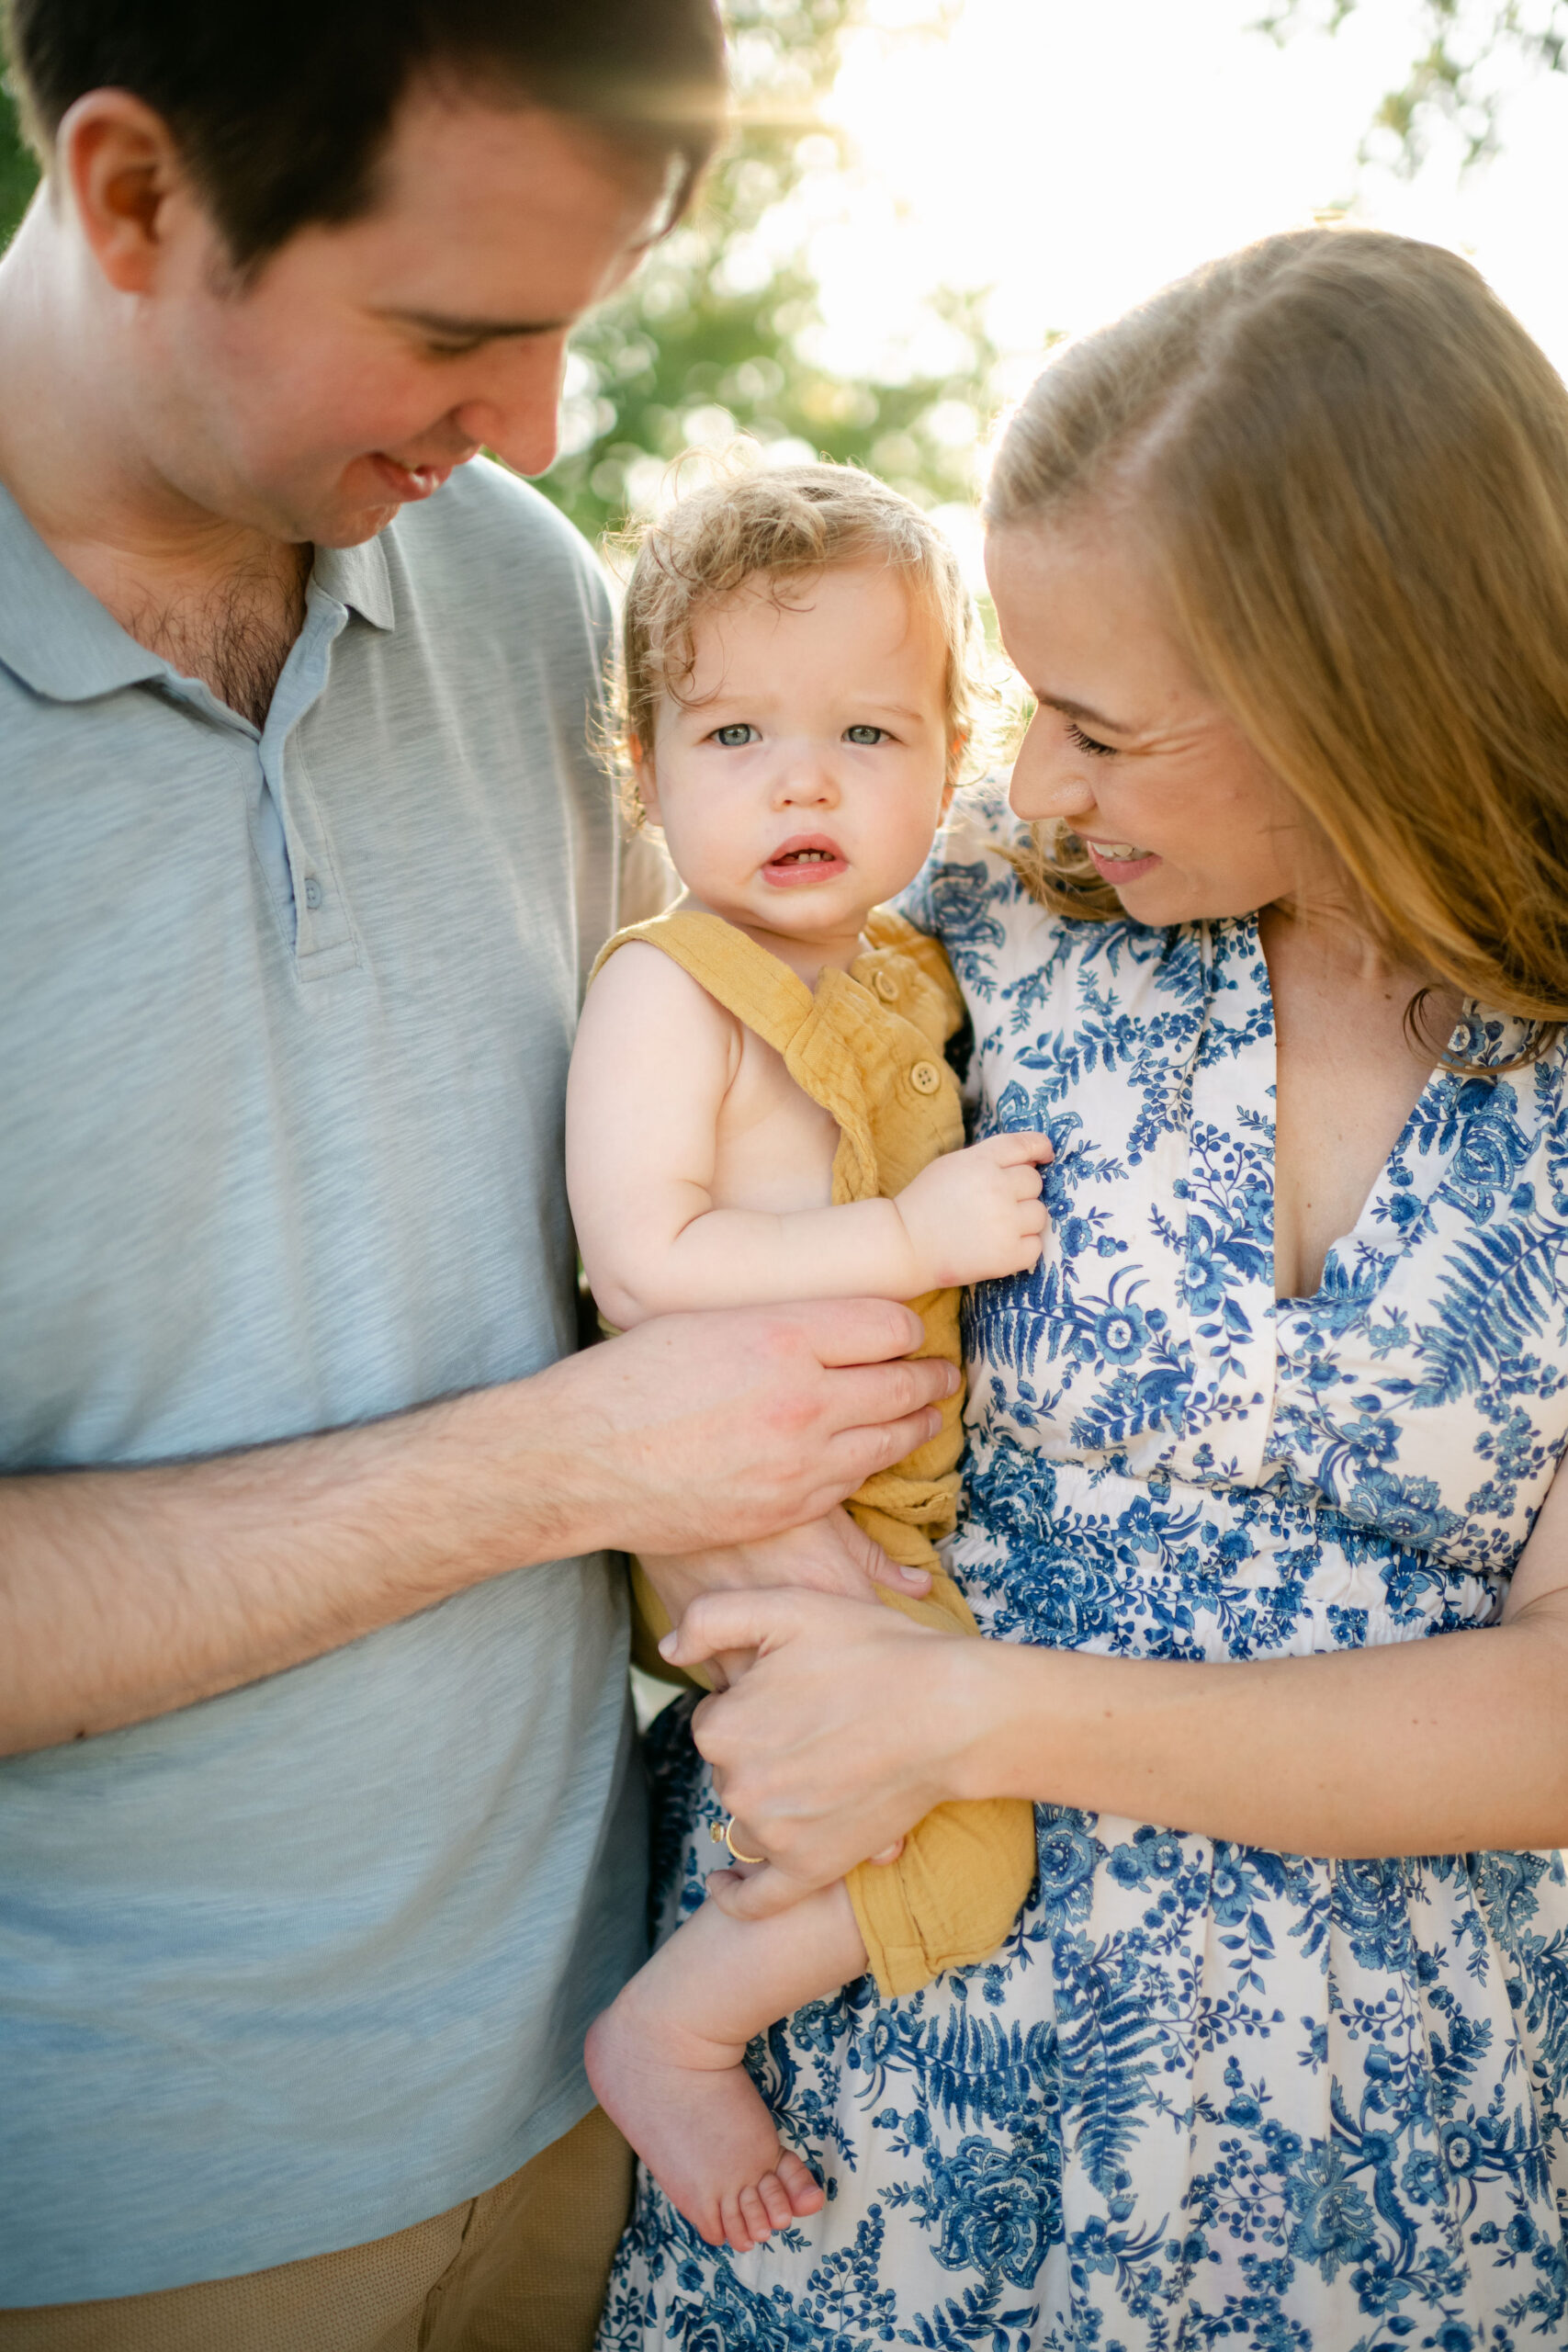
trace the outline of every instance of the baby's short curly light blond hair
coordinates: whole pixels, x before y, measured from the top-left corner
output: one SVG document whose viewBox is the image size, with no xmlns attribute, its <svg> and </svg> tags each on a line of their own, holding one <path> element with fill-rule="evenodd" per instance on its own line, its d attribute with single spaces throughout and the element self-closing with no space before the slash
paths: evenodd
<svg viewBox="0 0 1568 2352">
<path fill-rule="evenodd" d="M 642 823 L 635 762 L 654 746 L 663 696 L 684 701 L 696 666 L 696 623 L 724 597 L 766 586 L 776 597 L 830 564 L 889 564 L 936 619 L 945 647 L 947 783 L 978 757 L 994 701 L 985 640 L 957 555 L 929 515 L 853 466 L 733 463 L 630 532 L 621 619 L 614 755 L 625 811 Z M 983 764 L 983 757 L 980 757 Z"/>
</svg>

